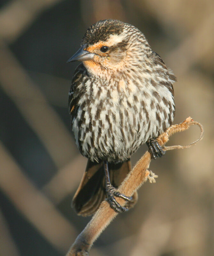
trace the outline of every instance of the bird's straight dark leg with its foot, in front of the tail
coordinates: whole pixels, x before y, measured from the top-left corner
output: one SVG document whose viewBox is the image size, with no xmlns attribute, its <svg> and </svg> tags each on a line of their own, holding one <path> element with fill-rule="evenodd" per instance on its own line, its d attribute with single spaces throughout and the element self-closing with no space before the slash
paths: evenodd
<svg viewBox="0 0 214 256">
<path fill-rule="evenodd" d="M 103 161 L 104 164 L 104 171 L 105 171 L 105 178 L 106 178 L 106 195 L 107 195 L 107 201 L 110 204 L 111 208 L 115 210 L 115 212 L 125 212 L 128 210 L 127 207 L 123 207 L 120 204 L 117 203 L 115 200 L 115 197 L 121 197 L 127 202 L 130 202 L 132 200 L 132 196 L 125 196 L 118 192 L 115 187 L 111 185 L 109 172 L 108 172 L 108 162 Z"/>
</svg>

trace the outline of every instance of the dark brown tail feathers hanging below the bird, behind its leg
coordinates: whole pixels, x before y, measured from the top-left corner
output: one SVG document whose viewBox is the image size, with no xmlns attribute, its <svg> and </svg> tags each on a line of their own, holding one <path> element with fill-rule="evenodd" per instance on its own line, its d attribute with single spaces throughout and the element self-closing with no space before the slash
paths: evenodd
<svg viewBox="0 0 214 256">
<path fill-rule="evenodd" d="M 130 159 L 119 164 L 108 164 L 111 184 L 118 188 L 127 174 L 131 171 Z M 105 175 L 103 162 L 94 163 L 88 160 L 80 185 L 73 197 L 72 206 L 78 215 L 89 216 L 97 211 L 100 203 L 106 198 Z M 131 208 L 137 202 L 137 192 L 132 196 L 132 201 L 127 203 Z"/>
</svg>

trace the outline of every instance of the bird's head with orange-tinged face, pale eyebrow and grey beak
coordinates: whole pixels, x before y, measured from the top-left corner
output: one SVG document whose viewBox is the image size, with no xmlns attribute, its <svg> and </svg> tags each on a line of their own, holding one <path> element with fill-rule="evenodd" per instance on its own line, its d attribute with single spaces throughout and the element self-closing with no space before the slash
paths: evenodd
<svg viewBox="0 0 214 256">
<path fill-rule="evenodd" d="M 135 62 L 147 48 L 144 35 L 134 26 L 119 20 L 100 20 L 87 29 L 80 49 L 67 62 L 83 61 L 91 74 L 99 76 L 123 70 L 125 63 Z"/>
</svg>

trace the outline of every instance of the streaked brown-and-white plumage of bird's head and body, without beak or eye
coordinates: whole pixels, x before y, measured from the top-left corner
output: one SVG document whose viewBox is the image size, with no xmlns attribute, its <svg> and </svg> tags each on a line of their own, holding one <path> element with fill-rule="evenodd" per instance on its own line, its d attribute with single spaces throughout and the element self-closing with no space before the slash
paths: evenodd
<svg viewBox="0 0 214 256">
<path fill-rule="evenodd" d="M 125 162 L 171 125 L 176 78 L 130 24 L 101 20 L 81 45 L 93 54 L 76 68 L 69 92 L 76 144 L 91 162 Z"/>
</svg>

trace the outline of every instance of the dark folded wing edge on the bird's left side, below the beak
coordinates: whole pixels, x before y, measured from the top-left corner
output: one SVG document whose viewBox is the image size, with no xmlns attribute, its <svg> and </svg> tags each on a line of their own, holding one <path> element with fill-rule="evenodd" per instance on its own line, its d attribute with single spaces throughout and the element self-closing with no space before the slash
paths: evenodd
<svg viewBox="0 0 214 256">
<path fill-rule="evenodd" d="M 71 81 L 70 91 L 68 93 L 68 107 L 69 113 L 72 114 L 76 108 L 77 96 L 79 95 L 80 85 L 83 83 L 83 79 L 87 76 L 87 70 L 81 62 L 74 71 L 74 75 Z"/>
</svg>

